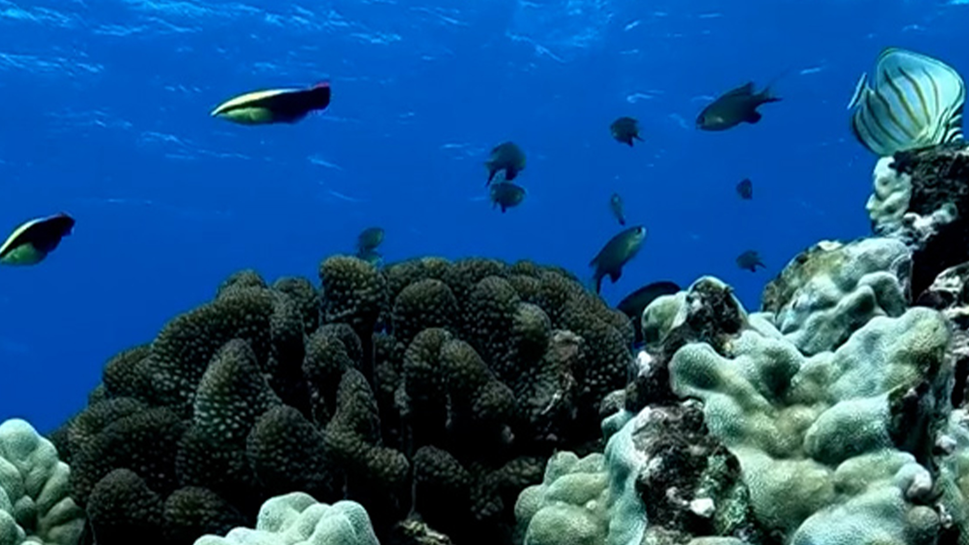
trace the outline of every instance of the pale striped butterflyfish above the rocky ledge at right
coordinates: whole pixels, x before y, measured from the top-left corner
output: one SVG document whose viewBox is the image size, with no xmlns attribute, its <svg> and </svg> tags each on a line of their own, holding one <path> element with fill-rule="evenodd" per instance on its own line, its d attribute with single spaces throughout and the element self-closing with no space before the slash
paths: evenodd
<svg viewBox="0 0 969 545">
<path fill-rule="evenodd" d="M 880 157 L 962 138 L 965 84 L 947 64 L 900 48 L 878 56 L 874 87 L 862 74 L 848 109 L 855 138 Z"/>
</svg>

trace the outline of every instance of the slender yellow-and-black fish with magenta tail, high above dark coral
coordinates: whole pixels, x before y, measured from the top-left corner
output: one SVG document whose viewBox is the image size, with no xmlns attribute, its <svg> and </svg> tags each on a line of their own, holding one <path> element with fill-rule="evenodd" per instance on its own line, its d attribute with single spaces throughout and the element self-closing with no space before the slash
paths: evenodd
<svg viewBox="0 0 969 545">
<path fill-rule="evenodd" d="M 296 123 L 309 112 L 329 106 L 329 83 L 323 81 L 303 89 L 267 89 L 234 97 L 215 108 L 211 115 L 242 125 Z"/>
</svg>

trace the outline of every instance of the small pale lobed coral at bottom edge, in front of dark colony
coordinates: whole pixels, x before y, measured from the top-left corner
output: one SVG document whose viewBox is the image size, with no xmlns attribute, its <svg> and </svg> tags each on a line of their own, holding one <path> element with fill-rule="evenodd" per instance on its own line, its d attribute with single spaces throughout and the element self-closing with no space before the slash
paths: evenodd
<svg viewBox="0 0 969 545">
<path fill-rule="evenodd" d="M 195 545 L 379 545 L 366 510 L 356 501 L 328 505 L 294 492 L 263 503 L 256 529 L 203 535 Z"/>
</svg>

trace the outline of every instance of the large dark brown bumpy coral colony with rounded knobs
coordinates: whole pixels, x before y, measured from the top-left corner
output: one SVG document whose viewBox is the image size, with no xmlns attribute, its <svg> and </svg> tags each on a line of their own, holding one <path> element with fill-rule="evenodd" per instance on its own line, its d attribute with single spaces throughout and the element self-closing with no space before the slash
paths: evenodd
<svg viewBox="0 0 969 545">
<path fill-rule="evenodd" d="M 88 542 L 188 545 L 302 491 L 359 501 L 388 542 L 510 543 L 547 457 L 599 446 L 633 328 L 570 273 L 335 256 L 320 279 L 235 273 L 109 361 L 52 435 Z"/>
</svg>

